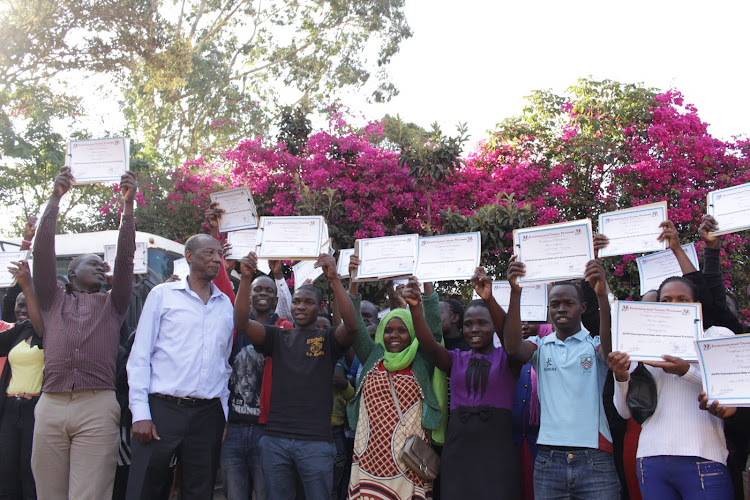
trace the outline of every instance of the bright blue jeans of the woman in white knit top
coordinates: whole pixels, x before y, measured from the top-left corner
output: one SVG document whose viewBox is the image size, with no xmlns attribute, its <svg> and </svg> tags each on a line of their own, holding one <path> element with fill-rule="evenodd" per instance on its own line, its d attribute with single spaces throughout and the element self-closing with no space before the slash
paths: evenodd
<svg viewBox="0 0 750 500">
<path fill-rule="evenodd" d="M 734 488 L 726 465 L 700 457 L 638 459 L 644 500 L 731 500 Z"/>
</svg>

